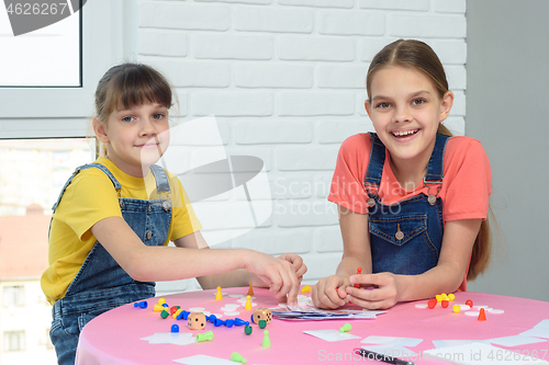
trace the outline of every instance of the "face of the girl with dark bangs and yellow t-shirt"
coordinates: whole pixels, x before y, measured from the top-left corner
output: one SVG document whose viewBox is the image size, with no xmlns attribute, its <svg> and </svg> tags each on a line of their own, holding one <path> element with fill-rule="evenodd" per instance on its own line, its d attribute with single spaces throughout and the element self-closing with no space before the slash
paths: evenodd
<svg viewBox="0 0 549 365">
<path fill-rule="evenodd" d="M 114 110 L 107 123 L 93 124 L 98 139 L 107 144 L 108 158 L 133 176 L 143 176 L 169 144 L 168 110 L 145 103 Z"/>
</svg>

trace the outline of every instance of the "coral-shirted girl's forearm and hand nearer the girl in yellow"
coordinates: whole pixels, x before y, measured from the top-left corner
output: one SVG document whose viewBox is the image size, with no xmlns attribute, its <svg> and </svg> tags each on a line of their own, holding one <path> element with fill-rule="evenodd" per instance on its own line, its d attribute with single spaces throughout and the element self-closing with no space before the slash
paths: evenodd
<svg viewBox="0 0 549 365">
<path fill-rule="evenodd" d="M 349 276 L 361 267 L 362 273 L 372 272 L 368 215 L 337 206 L 339 227 L 344 242 L 344 255 L 336 274 L 322 278 L 313 287 L 311 297 L 318 308 L 335 309 L 345 305 L 346 287 L 352 285 Z"/>
</svg>

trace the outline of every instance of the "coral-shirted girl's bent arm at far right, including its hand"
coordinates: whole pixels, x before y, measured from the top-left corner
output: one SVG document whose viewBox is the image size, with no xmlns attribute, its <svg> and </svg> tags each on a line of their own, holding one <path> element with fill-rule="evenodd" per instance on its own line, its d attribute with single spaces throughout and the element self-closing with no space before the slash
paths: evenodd
<svg viewBox="0 0 549 365">
<path fill-rule="evenodd" d="M 481 219 L 447 221 L 438 264 L 421 275 L 352 275 L 349 278 L 351 283 L 373 285 L 377 288 L 367 290 L 349 286 L 349 299 L 368 309 L 384 309 L 397 301 L 425 299 L 440 293 L 455 292 L 466 275 L 481 223 Z"/>
</svg>

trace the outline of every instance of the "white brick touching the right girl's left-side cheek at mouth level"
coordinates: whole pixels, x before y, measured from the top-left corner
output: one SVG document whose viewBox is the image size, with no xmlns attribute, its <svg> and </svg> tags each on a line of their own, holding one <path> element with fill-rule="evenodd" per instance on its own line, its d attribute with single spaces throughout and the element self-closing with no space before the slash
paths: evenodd
<svg viewBox="0 0 549 365">
<path fill-rule="evenodd" d="M 367 133 L 371 128 L 372 123 L 368 117 L 361 119 L 318 121 L 315 126 L 315 136 L 320 144 L 340 145 L 347 137 L 358 133 Z"/>
</svg>

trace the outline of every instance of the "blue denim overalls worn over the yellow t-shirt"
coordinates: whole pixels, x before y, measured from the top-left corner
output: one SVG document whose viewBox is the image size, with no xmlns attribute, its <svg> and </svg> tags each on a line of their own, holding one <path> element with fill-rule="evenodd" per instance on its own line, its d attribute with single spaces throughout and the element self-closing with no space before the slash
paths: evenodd
<svg viewBox="0 0 549 365">
<path fill-rule="evenodd" d="M 119 193 L 119 204 L 124 220 L 147 246 L 164 246 L 171 220 L 169 182 L 158 166 L 150 170 L 156 180 L 160 199 L 133 199 L 120 196 L 121 185 L 114 175 L 100 163 L 78 168 L 67 181 L 54 205 L 59 201 L 70 181 L 81 171 L 97 168 L 103 171 Z M 122 305 L 155 296 L 155 283 L 136 282 L 114 261 L 98 241 L 86 258 L 80 271 L 70 283 L 65 297 L 55 301 L 49 337 L 55 345 L 58 364 L 74 364 L 78 337 L 82 328 L 94 317 Z"/>
</svg>

